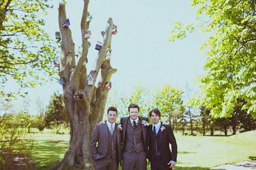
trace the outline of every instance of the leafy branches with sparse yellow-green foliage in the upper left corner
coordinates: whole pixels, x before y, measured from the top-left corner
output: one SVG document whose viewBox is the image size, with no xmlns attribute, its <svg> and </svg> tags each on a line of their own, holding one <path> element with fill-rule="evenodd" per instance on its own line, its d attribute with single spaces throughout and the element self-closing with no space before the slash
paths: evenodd
<svg viewBox="0 0 256 170">
<path fill-rule="evenodd" d="M 42 71 L 52 78 L 55 47 L 44 31 L 41 14 L 52 8 L 48 0 L 2 0 L 0 2 L 0 82 L 7 76 L 21 87 L 42 82 Z M 32 77 L 30 81 L 26 77 Z M 11 94 L 10 94 L 11 95 Z"/>
</svg>

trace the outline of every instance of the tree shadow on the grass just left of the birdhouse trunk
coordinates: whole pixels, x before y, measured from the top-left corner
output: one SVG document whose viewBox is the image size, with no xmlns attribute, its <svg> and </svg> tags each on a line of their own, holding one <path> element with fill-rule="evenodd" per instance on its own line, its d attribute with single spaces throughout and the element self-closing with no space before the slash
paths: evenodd
<svg viewBox="0 0 256 170">
<path fill-rule="evenodd" d="M 67 145 L 68 141 L 54 143 L 51 140 L 35 140 L 32 158 L 35 161 L 36 170 L 49 170 L 49 167 L 63 158 Z"/>
</svg>

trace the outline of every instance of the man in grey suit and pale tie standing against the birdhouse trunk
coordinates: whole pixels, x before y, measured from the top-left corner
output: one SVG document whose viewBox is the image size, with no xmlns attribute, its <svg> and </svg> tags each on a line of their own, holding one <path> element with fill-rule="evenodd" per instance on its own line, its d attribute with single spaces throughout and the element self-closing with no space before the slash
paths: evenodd
<svg viewBox="0 0 256 170">
<path fill-rule="evenodd" d="M 95 170 L 118 170 L 121 163 L 121 131 L 118 130 L 117 110 L 108 108 L 105 124 L 96 124 L 90 140 L 90 152 L 95 161 Z M 98 145 L 96 146 L 96 143 Z"/>
</svg>

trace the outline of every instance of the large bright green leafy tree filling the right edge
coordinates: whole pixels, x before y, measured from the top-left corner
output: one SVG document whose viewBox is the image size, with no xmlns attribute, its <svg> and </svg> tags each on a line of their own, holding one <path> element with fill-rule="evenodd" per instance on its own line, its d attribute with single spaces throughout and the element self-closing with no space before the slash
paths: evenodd
<svg viewBox="0 0 256 170">
<path fill-rule="evenodd" d="M 253 0 L 191 0 L 198 6 L 196 24 L 175 22 L 169 41 L 186 38 L 187 33 L 210 32 L 202 43 L 207 73 L 198 77 L 201 101 L 195 105 L 211 108 L 212 116 L 230 117 L 238 98 L 256 118 L 256 3 Z"/>
</svg>

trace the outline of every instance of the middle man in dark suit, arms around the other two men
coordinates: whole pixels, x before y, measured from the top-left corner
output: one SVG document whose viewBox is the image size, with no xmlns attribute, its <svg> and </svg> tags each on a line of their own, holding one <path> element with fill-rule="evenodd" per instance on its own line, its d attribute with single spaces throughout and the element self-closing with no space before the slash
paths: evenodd
<svg viewBox="0 0 256 170">
<path fill-rule="evenodd" d="M 131 104 L 128 117 L 122 117 L 122 170 L 147 170 L 148 118 L 138 116 L 140 107 Z"/>
</svg>

